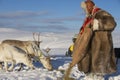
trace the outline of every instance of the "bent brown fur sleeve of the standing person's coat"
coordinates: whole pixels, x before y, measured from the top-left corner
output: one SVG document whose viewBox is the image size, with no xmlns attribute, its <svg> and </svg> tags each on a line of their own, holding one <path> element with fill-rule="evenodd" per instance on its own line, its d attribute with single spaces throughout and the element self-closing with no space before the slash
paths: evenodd
<svg viewBox="0 0 120 80">
<path fill-rule="evenodd" d="M 114 30 L 116 27 L 116 22 L 111 14 L 106 11 L 99 11 L 95 15 L 95 19 L 99 22 L 99 30 Z"/>
</svg>

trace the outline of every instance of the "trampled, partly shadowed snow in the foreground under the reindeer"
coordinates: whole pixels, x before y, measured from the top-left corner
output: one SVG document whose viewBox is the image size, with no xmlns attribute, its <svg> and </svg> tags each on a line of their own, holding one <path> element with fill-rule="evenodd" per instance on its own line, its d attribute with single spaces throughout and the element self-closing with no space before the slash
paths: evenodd
<svg viewBox="0 0 120 80">
<path fill-rule="evenodd" d="M 16 71 L 17 67 L 15 67 L 13 72 L 0 71 L 0 80 L 63 80 L 64 72 L 62 72 L 62 70 L 68 68 L 70 61 L 71 57 L 56 56 L 52 58 L 51 63 L 54 67 L 53 71 L 44 69 L 39 62 L 34 62 L 34 65 L 36 66 L 35 70 L 29 70 L 27 67 L 24 67 L 22 71 Z M 120 63 L 118 66 L 120 66 Z M 120 69 L 118 72 L 106 75 L 104 78 L 86 76 L 83 72 L 78 71 L 75 66 L 72 69 L 70 77 L 75 80 L 120 80 L 119 74 Z"/>
</svg>

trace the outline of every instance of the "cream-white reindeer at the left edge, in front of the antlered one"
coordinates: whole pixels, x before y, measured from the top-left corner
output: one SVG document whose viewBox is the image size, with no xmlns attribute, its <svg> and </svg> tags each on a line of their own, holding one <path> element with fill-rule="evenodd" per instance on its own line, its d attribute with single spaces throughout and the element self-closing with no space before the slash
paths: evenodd
<svg viewBox="0 0 120 80">
<path fill-rule="evenodd" d="M 34 69 L 31 59 L 26 55 L 24 50 L 6 43 L 0 44 L 0 62 L 4 62 L 6 71 L 12 71 L 15 63 L 23 63 Z M 9 68 L 8 63 L 11 63 Z"/>
</svg>

